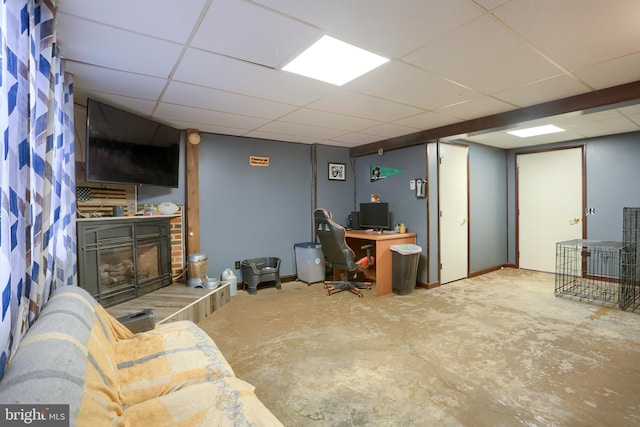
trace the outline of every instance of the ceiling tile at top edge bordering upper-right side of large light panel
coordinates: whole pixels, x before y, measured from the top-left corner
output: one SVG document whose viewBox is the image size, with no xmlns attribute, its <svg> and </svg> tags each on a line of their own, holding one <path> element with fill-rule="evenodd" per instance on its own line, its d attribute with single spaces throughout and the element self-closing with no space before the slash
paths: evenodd
<svg viewBox="0 0 640 427">
<path fill-rule="evenodd" d="M 399 58 L 482 14 L 468 0 L 256 0 L 377 54 Z"/>
</svg>

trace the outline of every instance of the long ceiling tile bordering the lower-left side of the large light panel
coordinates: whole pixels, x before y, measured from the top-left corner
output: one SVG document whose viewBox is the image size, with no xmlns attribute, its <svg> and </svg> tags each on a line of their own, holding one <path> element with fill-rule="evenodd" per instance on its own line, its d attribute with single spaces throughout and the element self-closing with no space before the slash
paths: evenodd
<svg viewBox="0 0 640 427">
<path fill-rule="evenodd" d="M 174 80 L 298 106 L 336 90 L 328 83 L 198 49 L 185 53 Z"/>
</svg>

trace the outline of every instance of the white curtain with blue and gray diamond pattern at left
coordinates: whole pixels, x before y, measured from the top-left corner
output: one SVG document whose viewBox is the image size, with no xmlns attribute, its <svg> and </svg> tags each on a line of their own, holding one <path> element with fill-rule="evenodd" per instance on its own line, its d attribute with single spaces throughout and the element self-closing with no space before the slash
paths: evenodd
<svg viewBox="0 0 640 427">
<path fill-rule="evenodd" d="M 76 284 L 73 85 L 54 16 L 54 1 L 0 3 L 0 378 L 50 292 Z"/>
</svg>

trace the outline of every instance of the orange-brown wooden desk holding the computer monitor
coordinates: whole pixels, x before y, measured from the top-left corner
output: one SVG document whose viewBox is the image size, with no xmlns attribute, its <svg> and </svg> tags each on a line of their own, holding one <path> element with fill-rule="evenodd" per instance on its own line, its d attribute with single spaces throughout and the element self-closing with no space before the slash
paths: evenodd
<svg viewBox="0 0 640 427">
<path fill-rule="evenodd" d="M 376 295 L 390 294 L 391 288 L 391 246 L 402 244 L 416 244 L 416 233 L 378 233 L 377 231 L 348 230 L 345 234 L 347 244 L 357 256 L 366 255 L 360 249 L 366 244 L 373 244 L 372 255 L 375 258 L 373 267 L 365 270 L 366 276 L 375 275 Z"/>
</svg>

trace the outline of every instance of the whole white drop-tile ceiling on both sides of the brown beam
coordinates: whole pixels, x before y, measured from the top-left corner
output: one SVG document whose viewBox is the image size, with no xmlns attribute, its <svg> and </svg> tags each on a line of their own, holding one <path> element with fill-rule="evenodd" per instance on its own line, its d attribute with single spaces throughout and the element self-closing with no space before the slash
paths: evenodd
<svg viewBox="0 0 640 427">
<path fill-rule="evenodd" d="M 638 0 L 60 0 L 56 32 L 77 104 L 358 147 L 638 81 L 638 17 Z M 341 87 L 280 69 L 325 34 L 390 61 Z M 640 107 L 618 107 L 559 116 L 567 130 L 537 140 L 463 137 L 640 130 Z"/>
</svg>

